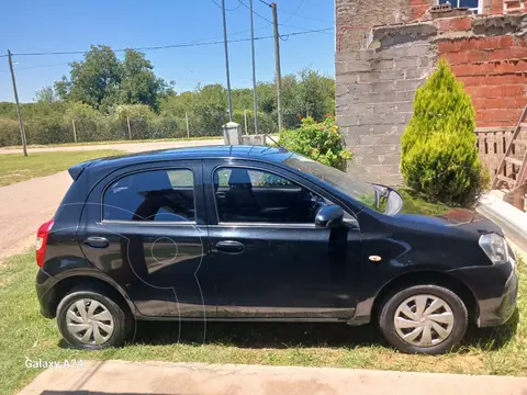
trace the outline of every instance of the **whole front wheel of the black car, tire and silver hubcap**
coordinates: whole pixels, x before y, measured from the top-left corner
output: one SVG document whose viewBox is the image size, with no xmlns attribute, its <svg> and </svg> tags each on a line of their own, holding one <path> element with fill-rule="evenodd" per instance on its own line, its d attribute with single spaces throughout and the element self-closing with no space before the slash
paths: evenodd
<svg viewBox="0 0 527 395">
<path fill-rule="evenodd" d="M 379 316 L 384 339 L 405 353 L 448 352 L 461 341 L 467 325 L 468 312 L 461 298 L 438 285 L 415 285 L 392 293 Z"/>
</svg>

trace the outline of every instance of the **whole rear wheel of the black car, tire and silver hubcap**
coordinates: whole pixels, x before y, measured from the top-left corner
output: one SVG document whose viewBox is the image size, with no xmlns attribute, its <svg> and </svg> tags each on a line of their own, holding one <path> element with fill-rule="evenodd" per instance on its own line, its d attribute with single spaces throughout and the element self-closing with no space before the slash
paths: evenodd
<svg viewBox="0 0 527 395">
<path fill-rule="evenodd" d="M 91 307 L 93 312 L 90 312 Z M 64 340 L 71 347 L 101 350 L 122 346 L 133 319 L 105 294 L 97 290 L 75 289 L 57 306 L 57 325 Z"/>
</svg>

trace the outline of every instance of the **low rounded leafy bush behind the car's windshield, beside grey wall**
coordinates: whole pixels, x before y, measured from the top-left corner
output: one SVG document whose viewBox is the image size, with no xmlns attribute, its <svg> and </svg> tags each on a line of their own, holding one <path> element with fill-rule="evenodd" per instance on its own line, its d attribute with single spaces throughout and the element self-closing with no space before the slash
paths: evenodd
<svg viewBox="0 0 527 395">
<path fill-rule="evenodd" d="M 321 123 L 312 117 L 303 119 L 298 129 L 280 133 L 280 145 L 340 170 L 346 169 L 346 161 L 352 157 L 344 145 L 333 116 L 327 116 Z"/>
</svg>

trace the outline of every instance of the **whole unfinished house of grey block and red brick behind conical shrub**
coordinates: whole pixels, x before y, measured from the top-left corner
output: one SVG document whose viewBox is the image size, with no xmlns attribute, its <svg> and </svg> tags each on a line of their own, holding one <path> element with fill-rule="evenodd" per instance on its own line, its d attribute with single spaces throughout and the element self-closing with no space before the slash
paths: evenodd
<svg viewBox="0 0 527 395">
<path fill-rule="evenodd" d="M 491 174 L 508 150 L 503 178 L 514 183 L 522 176 L 527 0 L 336 0 L 336 34 L 337 122 L 357 173 L 402 182 L 400 140 L 415 91 L 446 57 L 472 98 Z M 519 143 L 511 145 L 515 132 Z"/>
</svg>

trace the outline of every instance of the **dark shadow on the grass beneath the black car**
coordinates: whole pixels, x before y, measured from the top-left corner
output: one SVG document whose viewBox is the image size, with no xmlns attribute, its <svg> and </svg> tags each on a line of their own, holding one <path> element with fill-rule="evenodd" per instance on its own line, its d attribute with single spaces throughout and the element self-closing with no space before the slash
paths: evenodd
<svg viewBox="0 0 527 395">
<path fill-rule="evenodd" d="M 469 327 L 461 346 L 496 350 L 514 338 L 518 311 L 507 324 L 494 328 Z M 218 323 L 138 321 L 134 342 L 146 345 L 229 345 L 239 348 L 386 346 L 377 325 L 351 327 L 345 324 L 307 323 Z M 466 349 L 462 347 L 461 350 Z"/>
</svg>

